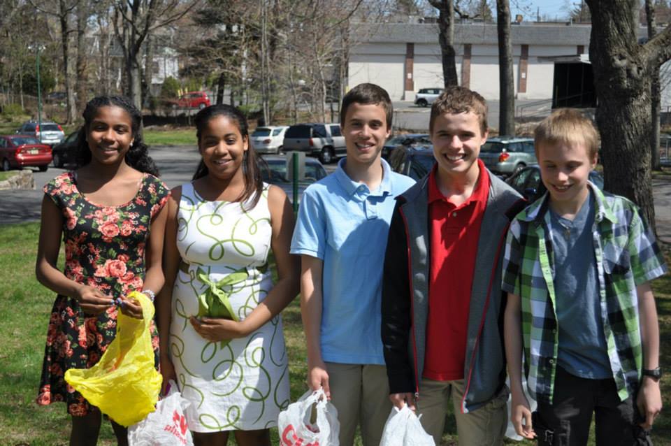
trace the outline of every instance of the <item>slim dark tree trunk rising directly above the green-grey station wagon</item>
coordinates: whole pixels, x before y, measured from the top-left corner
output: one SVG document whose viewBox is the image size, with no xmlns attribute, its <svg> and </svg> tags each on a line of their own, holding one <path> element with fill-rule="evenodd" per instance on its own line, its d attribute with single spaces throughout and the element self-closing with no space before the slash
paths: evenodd
<svg viewBox="0 0 671 446">
<path fill-rule="evenodd" d="M 515 89 L 512 75 L 509 0 L 496 0 L 496 15 L 496 29 L 498 31 L 498 84 L 500 89 L 498 132 L 500 135 L 514 135 Z"/>
</svg>

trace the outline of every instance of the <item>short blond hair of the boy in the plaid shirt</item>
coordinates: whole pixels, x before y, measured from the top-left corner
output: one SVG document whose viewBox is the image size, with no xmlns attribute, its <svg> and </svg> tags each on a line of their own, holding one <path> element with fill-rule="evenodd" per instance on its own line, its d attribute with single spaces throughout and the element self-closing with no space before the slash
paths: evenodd
<svg viewBox="0 0 671 446">
<path fill-rule="evenodd" d="M 533 136 L 536 157 L 540 146 L 545 144 L 584 144 L 591 159 L 599 150 L 599 132 L 593 122 L 575 108 L 554 110 L 537 125 Z"/>
</svg>

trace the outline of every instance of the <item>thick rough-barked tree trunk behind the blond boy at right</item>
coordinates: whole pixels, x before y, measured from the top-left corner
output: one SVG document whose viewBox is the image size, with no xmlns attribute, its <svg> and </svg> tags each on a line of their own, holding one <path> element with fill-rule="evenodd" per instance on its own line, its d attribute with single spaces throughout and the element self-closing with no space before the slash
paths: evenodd
<svg viewBox="0 0 671 446">
<path fill-rule="evenodd" d="M 654 226 L 650 94 L 654 75 L 671 58 L 671 25 L 641 44 L 637 0 L 586 1 L 605 189 L 637 203 Z"/>
</svg>

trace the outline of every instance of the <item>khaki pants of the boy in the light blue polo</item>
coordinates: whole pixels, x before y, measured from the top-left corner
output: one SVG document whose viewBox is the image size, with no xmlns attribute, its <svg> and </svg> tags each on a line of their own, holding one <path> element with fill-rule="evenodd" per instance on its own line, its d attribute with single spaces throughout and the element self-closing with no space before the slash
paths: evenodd
<svg viewBox="0 0 671 446">
<path fill-rule="evenodd" d="M 326 363 L 331 403 L 338 409 L 340 446 L 354 443 L 361 423 L 363 446 L 378 446 L 391 412 L 387 368 L 370 364 Z"/>
</svg>

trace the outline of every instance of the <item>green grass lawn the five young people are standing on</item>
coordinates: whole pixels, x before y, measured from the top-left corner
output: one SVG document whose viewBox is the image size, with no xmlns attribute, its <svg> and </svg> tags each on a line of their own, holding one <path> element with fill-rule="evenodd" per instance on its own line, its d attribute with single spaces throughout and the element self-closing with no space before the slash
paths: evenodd
<svg viewBox="0 0 671 446">
<path fill-rule="evenodd" d="M 55 294 L 38 284 L 34 274 L 39 225 L 0 226 L 0 444 L 66 445 L 69 419 L 64 404 L 38 407 L 34 403 L 40 380 L 45 334 Z M 671 246 L 665 246 L 671 260 Z M 61 264 L 64 255 L 60 256 Z M 657 298 L 663 370 L 671 370 L 671 276 L 653 283 Z M 291 398 L 305 391 L 305 339 L 298 300 L 284 310 L 289 350 Z M 671 376 L 662 380 L 665 410 L 657 419 L 654 444 L 671 446 Z M 272 433 L 277 444 L 277 431 Z M 231 444 L 233 442 L 231 441 Z M 523 442 L 510 444 L 531 445 Z M 103 423 L 100 445 L 115 445 L 109 424 Z M 360 440 L 357 440 L 360 445 Z M 447 424 L 443 443 L 456 445 L 456 426 Z M 593 444 L 593 443 L 590 443 Z"/>
</svg>

